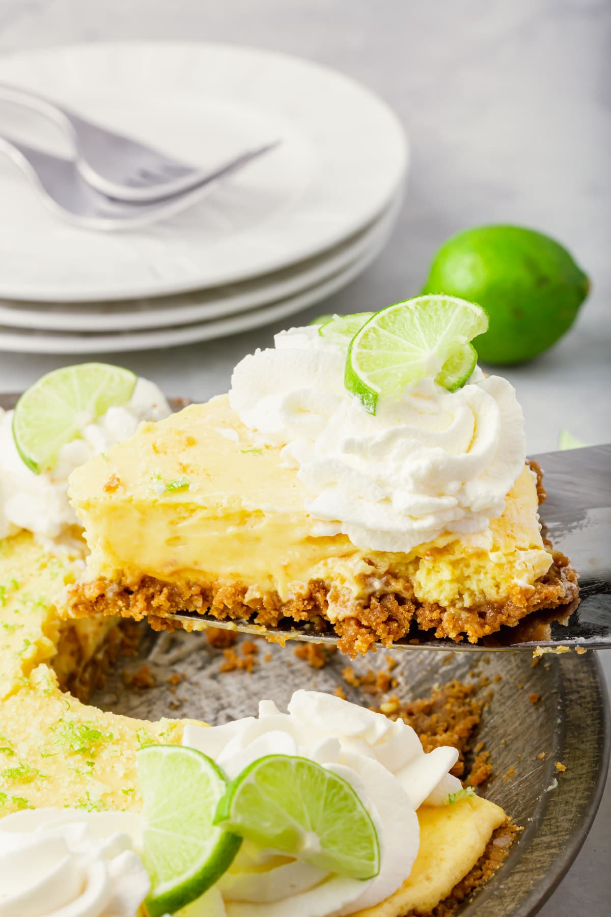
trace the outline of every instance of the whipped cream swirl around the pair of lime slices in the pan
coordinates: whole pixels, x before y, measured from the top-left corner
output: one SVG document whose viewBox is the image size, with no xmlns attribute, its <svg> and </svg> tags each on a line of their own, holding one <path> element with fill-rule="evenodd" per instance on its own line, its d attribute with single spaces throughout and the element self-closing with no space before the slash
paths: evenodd
<svg viewBox="0 0 611 917">
<path fill-rule="evenodd" d="M 316 691 L 296 691 L 289 713 L 262 701 L 258 718 L 213 728 L 187 724 L 183 745 L 212 757 L 229 778 L 265 755 L 308 757 L 348 780 L 376 825 L 381 868 L 366 882 L 245 842 L 215 886 L 224 904 L 218 913 L 226 917 L 340 917 L 373 907 L 409 876 L 420 845 L 418 807 L 441 805 L 461 789 L 449 774 L 455 748 L 425 754 L 401 720 Z"/>
</svg>

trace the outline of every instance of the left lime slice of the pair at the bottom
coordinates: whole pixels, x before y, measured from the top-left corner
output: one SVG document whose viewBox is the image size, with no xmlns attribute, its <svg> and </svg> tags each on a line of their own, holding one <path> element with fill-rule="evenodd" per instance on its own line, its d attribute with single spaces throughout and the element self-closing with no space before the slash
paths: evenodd
<svg viewBox="0 0 611 917">
<path fill-rule="evenodd" d="M 144 801 L 144 864 L 149 917 L 199 898 L 231 865 L 242 839 L 213 824 L 227 789 L 223 771 L 194 748 L 145 746 L 137 752 Z"/>
</svg>

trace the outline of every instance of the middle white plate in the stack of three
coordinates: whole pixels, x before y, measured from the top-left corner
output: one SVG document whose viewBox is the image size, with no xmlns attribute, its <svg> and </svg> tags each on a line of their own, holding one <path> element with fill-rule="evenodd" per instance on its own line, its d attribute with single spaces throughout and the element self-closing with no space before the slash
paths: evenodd
<svg viewBox="0 0 611 917">
<path fill-rule="evenodd" d="M 108 303 L 28 303 L 0 301 L 0 325 L 44 331 L 113 333 L 186 325 L 270 305 L 309 289 L 359 260 L 378 239 L 387 238 L 401 204 L 398 195 L 371 226 L 329 253 L 295 268 L 232 286 L 175 296 Z"/>
</svg>

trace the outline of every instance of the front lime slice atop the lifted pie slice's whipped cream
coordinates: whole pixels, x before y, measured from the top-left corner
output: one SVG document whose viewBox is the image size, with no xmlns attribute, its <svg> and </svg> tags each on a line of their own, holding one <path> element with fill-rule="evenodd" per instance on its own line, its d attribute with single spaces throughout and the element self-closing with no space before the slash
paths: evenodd
<svg viewBox="0 0 611 917">
<path fill-rule="evenodd" d="M 486 331 L 481 306 L 453 296 L 416 296 L 376 312 L 348 348 L 345 386 L 376 414 L 380 394 L 397 396 Z M 468 376 L 466 377 L 468 378 Z"/>
</svg>

